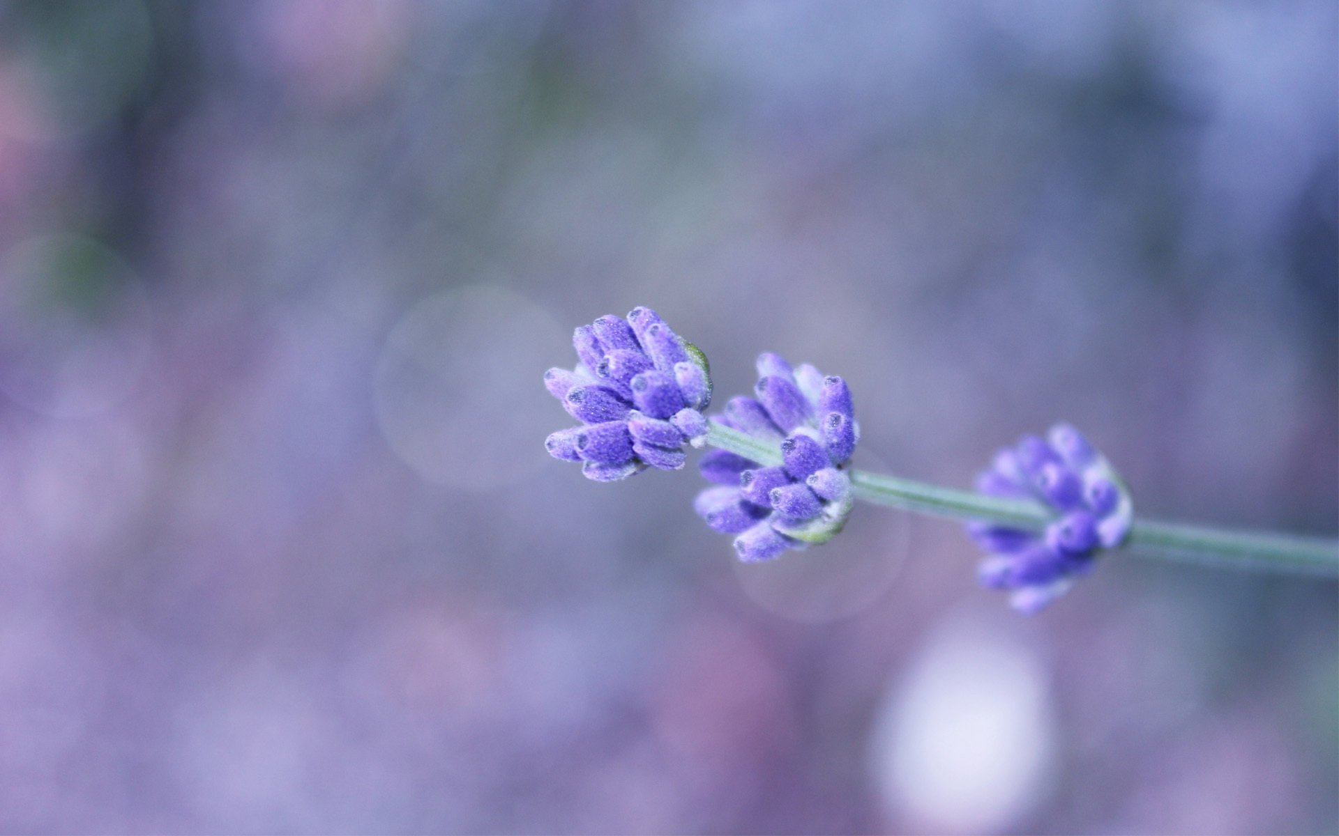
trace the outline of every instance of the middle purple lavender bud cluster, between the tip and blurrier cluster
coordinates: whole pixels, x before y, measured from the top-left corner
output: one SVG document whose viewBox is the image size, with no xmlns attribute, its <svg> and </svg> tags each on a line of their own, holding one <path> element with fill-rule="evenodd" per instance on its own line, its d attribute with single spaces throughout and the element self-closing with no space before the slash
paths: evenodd
<svg viewBox="0 0 1339 836">
<path fill-rule="evenodd" d="M 714 449 L 702 475 L 718 487 L 703 490 L 694 508 L 708 526 L 735 534 L 747 562 L 770 560 L 787 548 L 825 543 L 850 515 L 850 479 L 842 467 L 856 449 L 860 427 L 850 391 L 841 377 L 811 365 L 791 369 L 777 354 L 758 357 L 757 397 L 734 397 L 722 424 L 779 443 L 782 464 L 763 467 Z"/>
</svg>

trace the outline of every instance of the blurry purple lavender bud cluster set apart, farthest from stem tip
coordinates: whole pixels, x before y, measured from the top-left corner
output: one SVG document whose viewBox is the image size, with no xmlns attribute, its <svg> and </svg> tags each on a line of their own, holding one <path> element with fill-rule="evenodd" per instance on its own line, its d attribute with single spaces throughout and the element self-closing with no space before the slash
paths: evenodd
<svg viewBox="0 0 1339 836">
<path fill-rule="evenodd" d="M 1002 449 L 976 490 L 1007 499 L 1040 500 L 1056 512 L 1044 531 L 971 523 L 972 539 L 991 552 L 981 583 L 1012 590 L 1010 603 L 1036 613 L 1093 567 L 1099 548 L 1119 546 L 1134 515 L 1130 494 L 1107 460 L 1069 424 L 1046 440 L 1026 436 Z"/>
</svg>

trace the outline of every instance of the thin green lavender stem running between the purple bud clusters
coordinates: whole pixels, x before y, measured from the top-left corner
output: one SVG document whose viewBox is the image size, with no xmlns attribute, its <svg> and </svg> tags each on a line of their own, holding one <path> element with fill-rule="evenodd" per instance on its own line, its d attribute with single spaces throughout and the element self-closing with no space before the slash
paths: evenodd
<svg viewBox="0 0 1339 836">
<path fill-rule="evenodd" d="M 707 444 L 763 465 L 781 464 L 777 444 L 711 421 Z M 1040 503 L 998 499 L 925 482 L 850 471 L 856 499 L 956 520 L 1040 530 L 1052 514 Z M 1122 547 L 1148 556 L 1212 566 L 1339 577 L 1339 540 L 1256 531 L 1225 531 L 1137 519 Z"/>
</svg>

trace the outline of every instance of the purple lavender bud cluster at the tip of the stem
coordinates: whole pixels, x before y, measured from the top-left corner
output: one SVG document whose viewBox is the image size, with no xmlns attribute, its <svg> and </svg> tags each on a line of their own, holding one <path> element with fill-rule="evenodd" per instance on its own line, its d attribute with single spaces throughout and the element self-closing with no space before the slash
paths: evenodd
<svg viewBox="0 0 1339 836">
<path fill-rule="evenodd" d="M 580 427 L 560 429 L 544 445 L 554 459 L 581 461 L 596 482 L 684 464 L 683 445 L 707 435 L 702 411 L 711 403 L 707 358 L 649 308 L 627 320 L 603 316 L 577 328 L 573 369 L 549 369 L 544 385 Z"/>
</svg>

